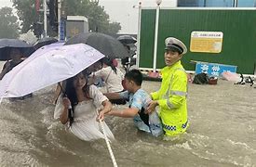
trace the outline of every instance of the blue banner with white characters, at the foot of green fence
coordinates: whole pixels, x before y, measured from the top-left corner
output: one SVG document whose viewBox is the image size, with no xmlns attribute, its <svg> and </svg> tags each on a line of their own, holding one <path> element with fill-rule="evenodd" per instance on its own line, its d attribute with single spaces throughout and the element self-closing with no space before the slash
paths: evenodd
<svg viewBox="0 0 256 167">
<path fill-rule="evenodd" d="M 223 71 L 236 72 L 236 66 L 207 63 L 207 62 L 196 62 L 195 74 L 197 73 L 208 73 L 209 76 L 220 76 Z"/>
</svg>

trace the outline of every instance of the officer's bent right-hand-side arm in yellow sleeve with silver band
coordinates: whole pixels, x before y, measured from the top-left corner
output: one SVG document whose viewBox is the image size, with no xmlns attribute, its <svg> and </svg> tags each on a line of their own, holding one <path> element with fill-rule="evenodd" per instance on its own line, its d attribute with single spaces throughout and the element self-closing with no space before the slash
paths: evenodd
<svg viewBox="0 0 256 167">
<path fill-rule="evenodd" d="M 186 99 L 187 92 L 187 76 L 184 71 L 176 71 L 169 90 L 168 98 L 157 100 L 158 105 L 163 109 L 180 108 L 183 100 Z"/>
</svg>

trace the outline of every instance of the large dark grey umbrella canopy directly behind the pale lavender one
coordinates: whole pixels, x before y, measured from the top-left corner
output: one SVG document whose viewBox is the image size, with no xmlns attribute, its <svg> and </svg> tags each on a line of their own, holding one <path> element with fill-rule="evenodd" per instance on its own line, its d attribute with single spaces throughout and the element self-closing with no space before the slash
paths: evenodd
<svg viewBox="0 0 256 167">
<path fill-rule="evenodd" d="M 118 40 L 100 32 L 79 33 L 70 38 L 65 45 L 84 43 L 99 50 L 108 58 L 126 58 L 128 51 Z"/>
</svg>

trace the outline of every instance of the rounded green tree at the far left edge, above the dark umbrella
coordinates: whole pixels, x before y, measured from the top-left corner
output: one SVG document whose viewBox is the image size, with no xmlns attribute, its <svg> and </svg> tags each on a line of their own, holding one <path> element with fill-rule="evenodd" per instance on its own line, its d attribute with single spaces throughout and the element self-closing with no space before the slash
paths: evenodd
<svg viewBox="0 0 256 167">
<path fill-rule="evenodd" d="M 19 36 L 18 18 L 13 15 L 12 8 L 0 8 L 0 38 L 17 38 Z"/>
</svg>

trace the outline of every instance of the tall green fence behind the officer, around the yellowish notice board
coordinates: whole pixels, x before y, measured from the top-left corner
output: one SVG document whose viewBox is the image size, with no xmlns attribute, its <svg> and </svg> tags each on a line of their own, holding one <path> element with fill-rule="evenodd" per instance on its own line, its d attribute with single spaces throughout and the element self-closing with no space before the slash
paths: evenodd
<svg viewBox="0 0 256 167">
<path fill-rule="evenodd" d="M 253 74 L 256 62 L 256 11 L 246 9 L 160 9 L 156 68 L 165 66 L 165 38 L 174 36 L 187 45 L 182 58 L 187 71 L 191 60 L 237 66 L 237 72 Z M 191 32 L 222 32 L 221 53 L 190 52 Z M 140 68 L 153 67 L 155 9 L 141 10 Z"/>
</svg>

